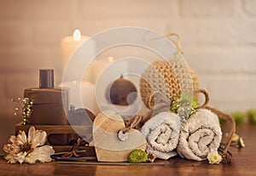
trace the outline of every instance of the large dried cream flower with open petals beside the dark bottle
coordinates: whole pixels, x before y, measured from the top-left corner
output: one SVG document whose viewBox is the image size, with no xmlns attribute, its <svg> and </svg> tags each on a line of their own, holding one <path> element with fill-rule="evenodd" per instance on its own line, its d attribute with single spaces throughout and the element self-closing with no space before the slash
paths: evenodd
<svg viewBox="0 0 256 176">
<path fill-rule="evenodd" d="M 3 146 L 7 153 L 4 158 L 8 163 L 28 162 L 33 164 L 39 162 L 51 162 L 51 155 L 55 153 L 52 146 L 44 145 L 47 134 L 42 130 L 36 130 L 34 127 L 29 128 L 28 135 L 20 131 L 17 136 L 11 136 L 9 143 Z"/>
</svg>

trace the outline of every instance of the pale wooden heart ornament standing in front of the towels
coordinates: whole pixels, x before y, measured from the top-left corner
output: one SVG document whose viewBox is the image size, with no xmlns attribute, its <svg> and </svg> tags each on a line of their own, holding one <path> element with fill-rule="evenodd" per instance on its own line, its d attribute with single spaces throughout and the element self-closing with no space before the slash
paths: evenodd
<svg viewBox="0 0 256 176">
<path fill-rule="evenodd" d="M 125 128 L 122 116 L 114 111 L 103 111 L 93 122 L 93 141 L 98 162 L 127 162 L 131 150 L 145 150 L 147 142 L 136 129 L 129 130 L 128 139 L 118 138 L 120 130 Z"/>
</svg>

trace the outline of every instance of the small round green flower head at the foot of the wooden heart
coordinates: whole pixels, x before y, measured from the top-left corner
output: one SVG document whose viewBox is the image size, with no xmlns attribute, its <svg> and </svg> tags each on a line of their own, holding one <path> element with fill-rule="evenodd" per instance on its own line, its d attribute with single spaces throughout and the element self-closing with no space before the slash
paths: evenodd
<svg viewBox="0 0 256 176">
<path fill-rule="evenodd" d="M 141 149 L 136 149 L 131 151 L 127 159 L 128 159 L 128 162 L 131 162 L 131 163 L 141 163 L 141 162 L 147 162 L 148 156 L 146 151 Z"/>
</svg>

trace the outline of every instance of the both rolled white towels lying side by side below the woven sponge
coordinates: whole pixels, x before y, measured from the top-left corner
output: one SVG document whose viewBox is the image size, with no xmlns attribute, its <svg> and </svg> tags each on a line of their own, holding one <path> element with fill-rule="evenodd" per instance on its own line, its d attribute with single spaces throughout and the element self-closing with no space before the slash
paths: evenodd
<svg viewBox="0 0 256 176">
<path fill-rule="evenodd" d="M 206 160 L 210 152 L 218 150 L 222 138 L 218 116 L 206 109 L 196 111 L 183 124 L 177 114 L 160 112 L 141 132 L 147 139 L 147 151 L 165 160 L 177 154 L 189 160 Z"/>
</svg>

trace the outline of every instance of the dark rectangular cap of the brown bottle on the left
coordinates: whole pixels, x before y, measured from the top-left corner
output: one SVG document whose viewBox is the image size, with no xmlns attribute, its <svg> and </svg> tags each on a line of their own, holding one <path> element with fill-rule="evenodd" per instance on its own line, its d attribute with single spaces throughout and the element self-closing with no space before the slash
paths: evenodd
<svg viewBox="0 0 256 176">
<path fill-rule="evenodd" d="M 39 88 L 54 88 L 54 70 L 39 70 Z"/>
</svg>

